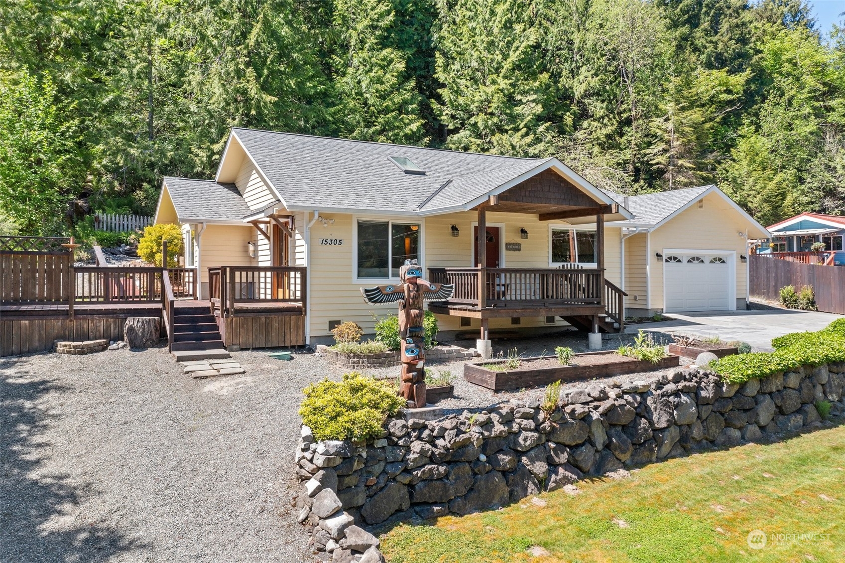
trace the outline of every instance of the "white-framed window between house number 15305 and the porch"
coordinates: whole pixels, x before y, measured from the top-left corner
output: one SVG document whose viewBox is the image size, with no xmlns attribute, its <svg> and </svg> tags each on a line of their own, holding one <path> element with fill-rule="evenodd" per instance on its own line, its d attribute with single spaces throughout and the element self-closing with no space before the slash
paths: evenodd
<svg viewBox="0 0 845 563">
<path fill-rule="evenodd" d="M 405 260 L 420 260 L 418 223 L 358 221 L 357 276 L 399 277 Z"/>
</svg>

